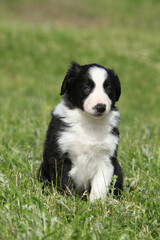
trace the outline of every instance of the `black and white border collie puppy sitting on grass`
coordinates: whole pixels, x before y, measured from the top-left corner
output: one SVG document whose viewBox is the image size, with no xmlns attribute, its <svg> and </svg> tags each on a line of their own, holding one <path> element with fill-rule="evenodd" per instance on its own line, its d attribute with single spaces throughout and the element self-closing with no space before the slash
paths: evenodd
<svg viewBox="0 0 160 240">
<path fill-rule="evenodd" d="M 98 64 L 72 62 L 62 87 L 62 101 L 52 112 L 38 179 L 59 190 L 83 194 L 90 201 L 104 199 L 117 176 L 114 193 L 122 190 L 117 161 L 121 94 L 118 76 Z"/>
</svg>

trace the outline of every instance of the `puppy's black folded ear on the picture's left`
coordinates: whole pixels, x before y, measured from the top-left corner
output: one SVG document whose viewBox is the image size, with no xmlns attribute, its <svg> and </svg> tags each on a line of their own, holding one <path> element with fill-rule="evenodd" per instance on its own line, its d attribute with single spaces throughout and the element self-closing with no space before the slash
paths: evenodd
<svg viewBox="0 0 160 240">
<path fill-rule="evenodd" d="M 60 95 L 63 95 L 67 91 L 69 85 L 73 82 L 75 77 L 80 72 L 80 68 L 81 68 L 81 66 L 78 63 L 71 62 L 71 66 L 64 78 L 63 83 L 62 83 Z"/>
</svg>

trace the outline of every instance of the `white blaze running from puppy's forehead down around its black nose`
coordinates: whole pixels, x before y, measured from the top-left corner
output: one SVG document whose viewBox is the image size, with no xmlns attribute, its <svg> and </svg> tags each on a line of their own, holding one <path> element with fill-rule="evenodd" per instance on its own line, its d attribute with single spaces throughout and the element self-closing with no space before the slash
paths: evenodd
<svg viewBox="0 0 160 240">
<path fill-rule="evenodd" d="M 97 104 L 106 105 L 106 113 L 110 111 L 111 100 L 104 90 L 104 82 L 108 77 L 107 70 L 101 67 L 91 67 L 88 71 L 90 78 L 95 83 L 93 91 L 88 95 L 84 101 L 84 110 L 92 115 L 95 113 L 94 107 Z"/>
</svg>

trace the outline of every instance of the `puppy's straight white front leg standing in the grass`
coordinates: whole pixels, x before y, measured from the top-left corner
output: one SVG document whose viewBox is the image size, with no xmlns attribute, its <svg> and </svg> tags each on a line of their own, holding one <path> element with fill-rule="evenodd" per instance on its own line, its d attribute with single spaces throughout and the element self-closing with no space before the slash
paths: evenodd
<svg viewBox="0 0 160 240">
<path fill-rule="evenodd" d="M 113 166 L 111 164 L 103 164 L 91 181 L 90 202 L 96 199 L 105 199 L 108 192 L 108 186 L 113 176 Z"/>
</svg>

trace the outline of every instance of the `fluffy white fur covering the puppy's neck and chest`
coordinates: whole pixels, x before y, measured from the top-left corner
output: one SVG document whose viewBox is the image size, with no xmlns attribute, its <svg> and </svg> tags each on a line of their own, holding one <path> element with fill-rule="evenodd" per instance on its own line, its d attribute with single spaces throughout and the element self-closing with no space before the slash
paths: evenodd
<svg viewBox="0 0 160 240">
<path fill-rule="evenodd" d="M 87 189 L 95 181 L 95 176 L 99 175 L 105 178 L 101 181 L 104 182 L 102 185 L 107 187 L 114 171 L 110 156 L 113 155 L 119 140 L 111 133 L 111 129 L 118 124 L 119 112 L 113 111 L 104 118 L 95 119 L 81 110 L 69 110 L 60 103 L 54 114 L 63 117 L 63 121 L 69 125 L 60 133 L 58 142 L 62 151 L 67 152 L 72 161 L 69 174 L 76 187 Z"/>
</svg>

